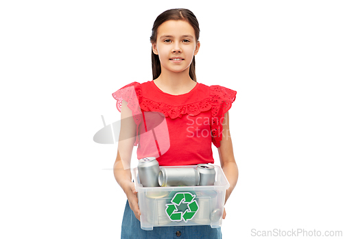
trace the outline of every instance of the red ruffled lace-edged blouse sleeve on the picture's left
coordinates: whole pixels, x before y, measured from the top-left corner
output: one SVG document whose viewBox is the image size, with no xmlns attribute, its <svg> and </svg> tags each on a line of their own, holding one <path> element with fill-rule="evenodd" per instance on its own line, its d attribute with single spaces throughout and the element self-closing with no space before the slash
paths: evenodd
<svg viewBox="0 0 343 239">
<path fill-rule="evenodd" d="M 137 146 L 139 143 L 139 124 L 142 121 L 141 107 L 139 105 L 142 101 L 141 84 L 138 82 L 132 82 L 114 92 L 112 96 L 117 100 L 117 110 L 119 110 L 119 112 L 121 112 L 121 104 L 123 100 L 128 102 L 128 108 L 132 111 L 134 122 L 137 125 L 136 142 L 134 142 L 134 146 Z"/>
</svg>

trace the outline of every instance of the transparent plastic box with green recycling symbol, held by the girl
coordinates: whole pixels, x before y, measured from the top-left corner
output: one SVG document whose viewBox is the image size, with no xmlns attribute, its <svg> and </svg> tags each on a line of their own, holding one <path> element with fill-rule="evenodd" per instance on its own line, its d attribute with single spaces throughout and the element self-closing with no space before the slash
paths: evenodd
<svg viewBox="0 0 343 239">
<path fill-rule="evenodd" d="M 154 227 L 222 225 L 225 192 L 229 188 L 222 168 L 215 167 L 214 186 L 143 187 L 138 169 L 132 169 L 134 186 L 137 190 L 141 229 Z M 165 166 L 161 168 L 193 167 Z"/>
</svg>

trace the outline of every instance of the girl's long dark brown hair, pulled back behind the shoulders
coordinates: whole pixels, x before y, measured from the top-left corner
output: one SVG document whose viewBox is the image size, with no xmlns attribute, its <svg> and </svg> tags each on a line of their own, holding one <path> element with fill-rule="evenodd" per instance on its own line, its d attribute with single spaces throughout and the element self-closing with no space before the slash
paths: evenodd
<svg viewBox="0 0 343 239">
<path fill-rule="evenodd" d="M 160 15 L 157 16 L 156 20 L 154 21 L 154 25 L 152 26 L 152 35 L 150 36 L 150 42 L 156 43 L 157 38 L 157 29 L 158 27 L 164 23 L 165 21 L 169 20 L 183 20 L 187 21 L 194 29 L 196 33 L 196 41 L 199 40 L 200 35 L 200 28 L 199 23 L 196 16 L 188 9 L 185 8 L 175 8 L 169 9 L 165 12 L 162 12 Z M 156 79 L 159 75 L 161 75 L 161 62 L 158 58 L 158 55 L 151 52 L 151 60 L 152 60 L 152 79 Z M 193 55 L 193 60 L 191 65 L 189 66 L 189 77 L 196 81 L 196 58 Z"/>
</svg>

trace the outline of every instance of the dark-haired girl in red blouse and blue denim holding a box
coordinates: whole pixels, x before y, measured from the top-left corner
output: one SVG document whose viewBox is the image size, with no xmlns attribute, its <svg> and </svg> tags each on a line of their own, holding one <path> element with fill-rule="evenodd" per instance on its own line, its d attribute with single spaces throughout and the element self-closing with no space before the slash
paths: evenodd
<svg viewBox="0 0 343 239">
<path fill-rule="evenodd" d="M 209 225 L 142 230 L 137 192 L 128 169 L 134 145 L 138 145 L 138 158 L 154 156 L 160 166 L 180 166 L 213 163 L 213 142 L 230 183 L 225 202 L 235 188 L 238 169 L 228 110 L 235 101 L 236 91 L 196 81 L 199 33 L 197 18 L 187 9 L 171 9 L 160 14 L 150 37 L 153 80 L 142 84 L 133 82 L 113 93 L 122 119 L 114 174 L 128 198 L 121 238 L 222 238 L 220 228 Z M 167 123 L 167 134 L 164 129 L 154 130 L 155 140 L 143 134 L 147 132 L 145 117 L 152 112 L 164 116 Z"/>
</svg>

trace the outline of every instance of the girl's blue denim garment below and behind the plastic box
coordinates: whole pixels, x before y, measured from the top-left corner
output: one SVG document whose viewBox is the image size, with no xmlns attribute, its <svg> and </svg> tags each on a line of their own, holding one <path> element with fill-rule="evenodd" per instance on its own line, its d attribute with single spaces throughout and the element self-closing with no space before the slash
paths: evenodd
<svg viewBox="0 0 343 239">
<path fill-rule="evenodd" d="M 134 216 L 128 201 L 121 223 L 121 239 L 222 239 L 219 228 L 204 226 L 154 227 L 152 231 L 141 229 L 141 222 Z"/>
</svg>

